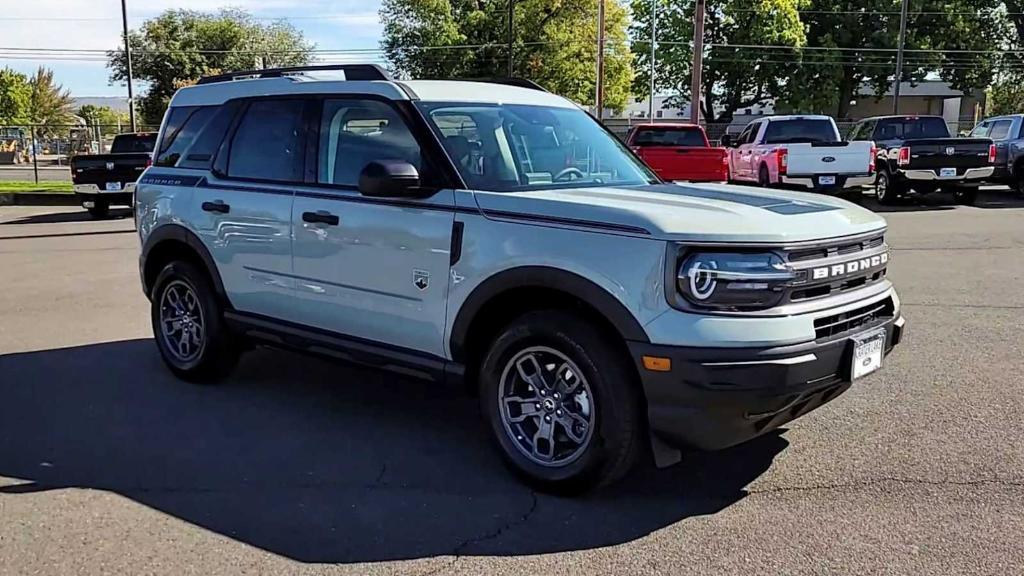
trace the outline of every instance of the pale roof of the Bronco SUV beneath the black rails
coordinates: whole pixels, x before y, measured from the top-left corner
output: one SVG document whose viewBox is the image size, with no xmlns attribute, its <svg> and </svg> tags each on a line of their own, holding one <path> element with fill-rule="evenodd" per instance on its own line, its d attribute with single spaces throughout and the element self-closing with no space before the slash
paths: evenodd
<svg viewBox="0 0 1024 576">
<path fill-rule="evenodd" d="M 214 106 L 229 99 L 278 94 L 376 94 L 393 100 L 488 102 L 578 108 L 543 90 L 488 82 L 450 80 L 346 81 L 315 76 L 252 78 L 181 88 L 171 106 Z"/>
</svg>

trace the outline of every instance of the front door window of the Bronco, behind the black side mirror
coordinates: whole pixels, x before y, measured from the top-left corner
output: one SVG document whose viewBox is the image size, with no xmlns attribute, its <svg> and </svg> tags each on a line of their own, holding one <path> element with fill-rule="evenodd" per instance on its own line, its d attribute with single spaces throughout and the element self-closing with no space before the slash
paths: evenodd
<svg viewBox="0 0 1024 576">
<path fill-rule="evenodd" d="M 321 117 L 317 181 L 356 187 L 371 162 L 401 160 L 422 172 L 420 145 L 390 106 L 329 99 Z"/>
</svg>

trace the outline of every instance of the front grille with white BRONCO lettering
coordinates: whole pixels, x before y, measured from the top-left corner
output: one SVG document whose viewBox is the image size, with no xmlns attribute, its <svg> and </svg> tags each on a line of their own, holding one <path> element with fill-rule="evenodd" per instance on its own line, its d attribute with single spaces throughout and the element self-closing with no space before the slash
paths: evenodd
<svg viewBox="0 0 1024 576">
<path fill-rule="evenodd" d="M 821 266 L 830 268 L 856 260 L 859 254 L 863 254 L 865 259 L 871 258 L 884 252 L 884 247 L 885 237 L 879 234 L 856 242 L 840 240 L 823 243 L 821 246 L 801 247 L 785 251 L 783 256 L 786 261 L 798 271 L 806 271 L 806 278 L 788 290 L 783 302 L 802 302 L 824 298 L 883 280 L 886 276 L 885 265 L 881 268 L 870 266 L 869 270 L 862 270 L 862 274 L 829 275 L 820 280 L 813 278 L 812 271 Z"/>
</svg>

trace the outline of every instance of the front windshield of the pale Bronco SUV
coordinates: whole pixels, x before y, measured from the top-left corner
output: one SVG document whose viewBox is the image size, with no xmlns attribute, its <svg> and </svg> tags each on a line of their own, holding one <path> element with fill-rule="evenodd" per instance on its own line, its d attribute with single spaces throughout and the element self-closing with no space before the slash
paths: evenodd
<svg viewBox="0 0 1024 576">
<path fill-rule="evenodd" d="M 657 181 L 618 138 L 582 110 L 475 102 L 417 106 L 466 184 L 474 190 Z"/>
</svg>

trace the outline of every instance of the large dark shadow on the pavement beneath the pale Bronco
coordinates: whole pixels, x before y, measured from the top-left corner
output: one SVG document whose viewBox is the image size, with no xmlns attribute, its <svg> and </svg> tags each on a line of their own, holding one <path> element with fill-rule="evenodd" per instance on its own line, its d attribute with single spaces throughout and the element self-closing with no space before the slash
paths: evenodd
<svg viewBox="0 0 1024 576">
<path fill-rule="evenodd" d="M 456 390 L 257 349 L 217 386 L 152 340 L 0 356 L 0 498 L 111 491 L 301 562 L 518 556 L 620 544 L 715 513 L 780 433 L 578 499 L 519 484 Z M 112 512 L 116 513 L 116 512 Z"/>
</svg>

